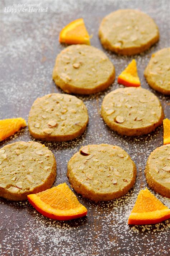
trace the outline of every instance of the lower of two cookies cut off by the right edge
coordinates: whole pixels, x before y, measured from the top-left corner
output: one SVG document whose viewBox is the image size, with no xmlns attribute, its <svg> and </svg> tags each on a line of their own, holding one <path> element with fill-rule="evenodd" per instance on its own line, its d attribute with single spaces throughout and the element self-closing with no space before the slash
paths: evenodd
<svg viewBox="0 0 170 256">
<path fill-rule="evenodd" d="M 170 144 L 157 147 L 148 157 L 145 168 L 149 187 L 170 198 Z"/>
</svg>

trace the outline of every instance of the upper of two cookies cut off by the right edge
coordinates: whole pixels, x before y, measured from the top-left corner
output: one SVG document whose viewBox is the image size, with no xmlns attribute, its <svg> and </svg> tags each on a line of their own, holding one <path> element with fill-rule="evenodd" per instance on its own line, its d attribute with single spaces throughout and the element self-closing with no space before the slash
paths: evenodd
<svg viewBox="0 0 170 256">
<path fill-rule="evenodd" d="M 152 54 L 144 75 L 150 87 L 163 94 L 170 94 L 170 48 Z"/>
</svg>

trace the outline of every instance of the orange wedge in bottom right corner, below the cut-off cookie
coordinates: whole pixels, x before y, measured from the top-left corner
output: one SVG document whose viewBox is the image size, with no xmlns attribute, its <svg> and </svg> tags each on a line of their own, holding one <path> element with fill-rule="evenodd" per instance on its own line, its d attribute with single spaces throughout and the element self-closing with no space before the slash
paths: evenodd
<svg viewBox="0 0 170 256">
<path fill-rule="evenodd" d="M 138 194 L 128 224 L 156 224 L 169 218 L 170 209 L 146 188 Z"/>
</svg>

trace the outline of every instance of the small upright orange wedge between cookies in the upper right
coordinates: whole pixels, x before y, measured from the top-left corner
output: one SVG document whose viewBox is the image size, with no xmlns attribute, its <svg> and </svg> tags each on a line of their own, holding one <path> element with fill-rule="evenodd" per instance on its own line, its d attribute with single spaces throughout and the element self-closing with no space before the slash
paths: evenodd
<svg viewBox="0 0 170 256">
<path fill-rule="evenodd" d="M 127 87 L 134 86 L 138 87 L 141 85 L 135 59 L 132 59 L 131 63 L 122 71 L 118 76 L 118 83 L 123 84 Z"/>
</svg>

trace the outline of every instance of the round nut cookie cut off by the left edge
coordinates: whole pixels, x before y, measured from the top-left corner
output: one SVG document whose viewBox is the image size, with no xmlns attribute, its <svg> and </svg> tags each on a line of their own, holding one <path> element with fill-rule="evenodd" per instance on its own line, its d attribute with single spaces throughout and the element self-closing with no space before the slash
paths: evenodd
<svg viewBox="0 0 170 256">
<path fill-rule="evenodd" d="M 15 142 L 0 149 L 0 197 L 26 200 L 49 189 L 56 177 L 56 160 L 38 142 Z"/>
</svg>

